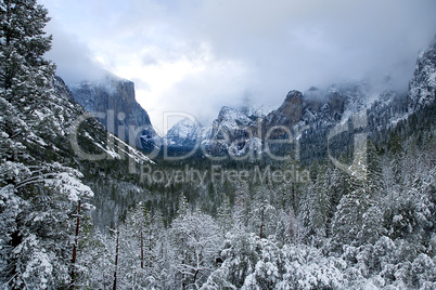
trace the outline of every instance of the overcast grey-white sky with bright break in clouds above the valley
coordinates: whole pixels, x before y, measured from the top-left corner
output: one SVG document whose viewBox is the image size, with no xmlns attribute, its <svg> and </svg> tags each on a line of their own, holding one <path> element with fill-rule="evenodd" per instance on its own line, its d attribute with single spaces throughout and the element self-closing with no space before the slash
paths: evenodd
<svg viewBox="0 0 436 290">
<path fill-rule="evenodd" d="M 279 107 L 290 90 L 349 79 L 406 89 L 436 34 L 434 0 L 39 2 L 57 74 L 74 83 L 101 67 L 134 81 L 157 127 L 164 111 L 206 122 L 244 95 Z"/>
</svg>

